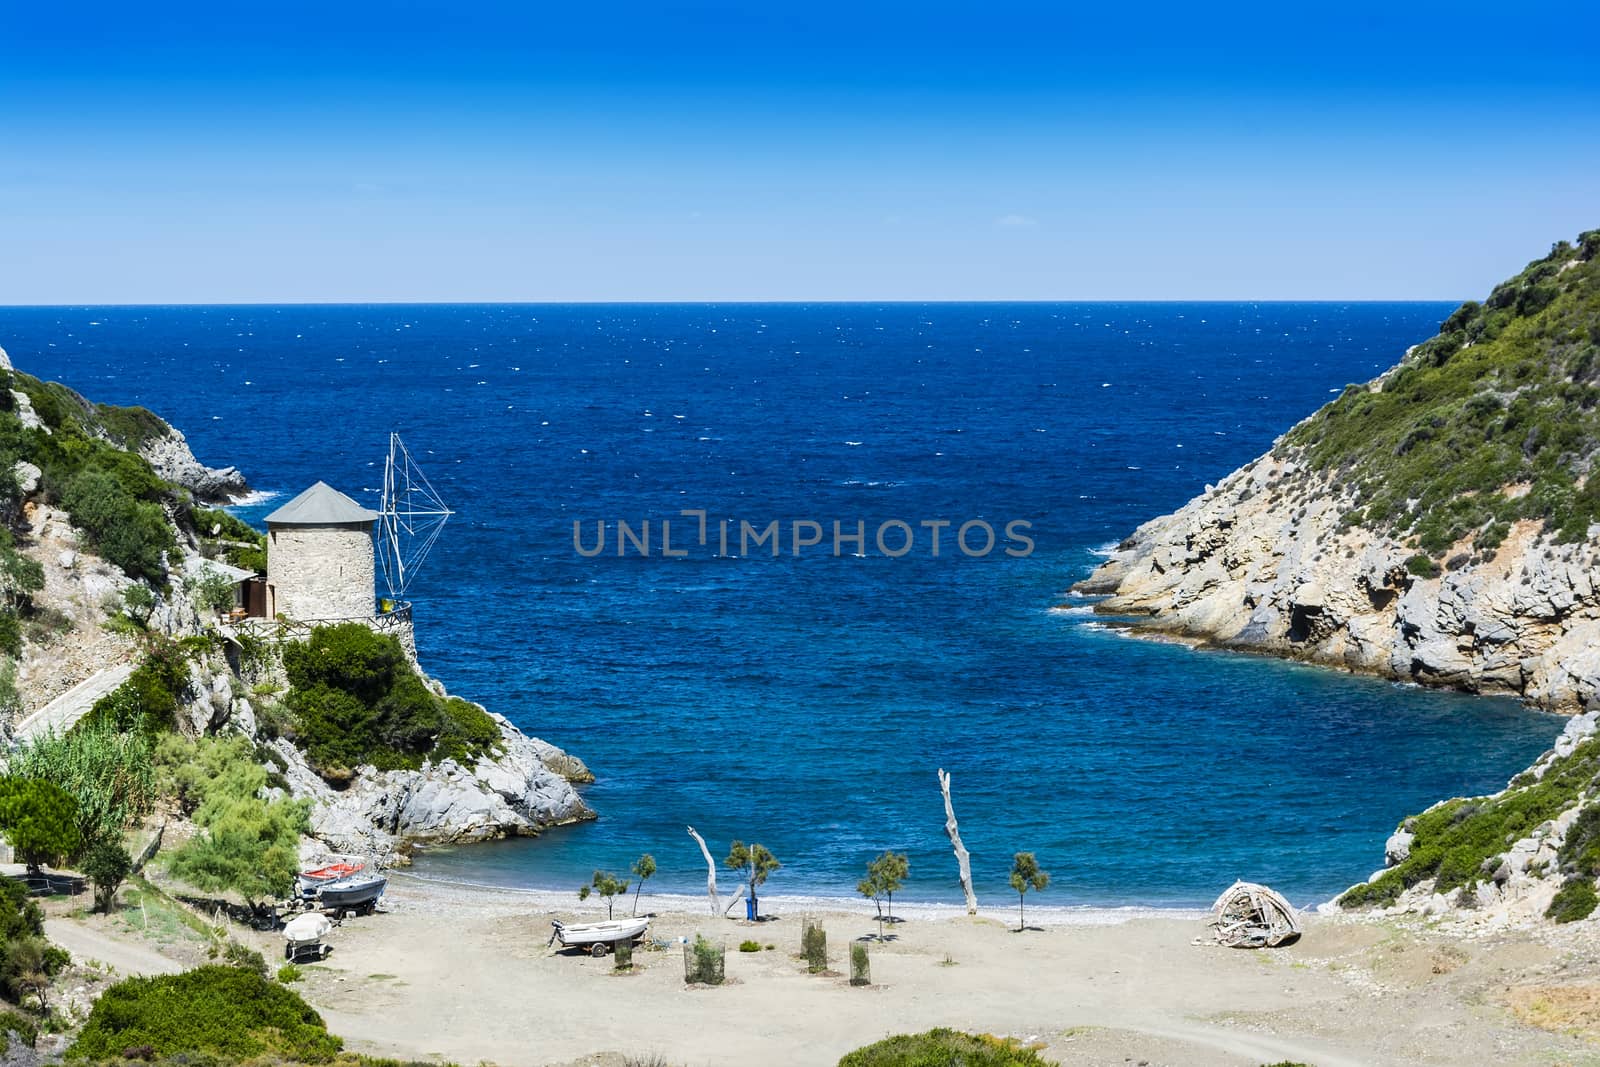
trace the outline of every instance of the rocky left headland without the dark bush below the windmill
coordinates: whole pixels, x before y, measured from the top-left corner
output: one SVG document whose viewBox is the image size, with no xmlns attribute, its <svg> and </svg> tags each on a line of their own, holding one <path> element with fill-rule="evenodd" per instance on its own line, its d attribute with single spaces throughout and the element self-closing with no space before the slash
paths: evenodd
<svg viewBox="0 0 1600 1067">
<path fill-rule="evenodd" d="M 403 862 L 414 845 L 533 835 L 594 817 L 574 789 L 594 781 L 579 758 L 478 705 L 470 707 L 493 721 L 498 739 L 469 757 L 320 774 L 293 729 L 283 729 L 288 683 L 277 645 L 291 638 L 242 643 L 219 624 L 205 582 L 195 577 L 211 558 L 243 569 L 264 566 L 259 534 L 202 507 L 248 493 L 245 477 L 200 462 L 184 435 L 154 413 L 98 405 L 24 374 L 3 350 L 0 378 L 0 400 L 10 400 L 0 403 L 0 454 L 10 456 L 16 483 L 14 493 L 0 493 L 13 537 L 3 550 L 22 560 L 5 569 L 37 565 L 37 581 L 6 590 L 19 619 L 10 681 L 0 685 L 10 686 L 0 693 L 6 736 L 18 726 L 70 728 L 157 640 L 186 649 L 176 729 L 190 737 L 248 737 L 272 774 L 272 790 L 309 801 L 307 859 Z M 69 459 L 83 451 L 94 459 L 90 474 Z M 117 483 L 112 490 L 128 494 L 109 522 L 93 494 L 74 491 L 77 478 L 104 472 Z M 123 536 L 130 528 L 142 530 L 142 539 Z M 440 701 L 453 701 L 414 659 L 408 670 Z M 96 688 L 98 678 L 107 685 Z"/>
</svg>

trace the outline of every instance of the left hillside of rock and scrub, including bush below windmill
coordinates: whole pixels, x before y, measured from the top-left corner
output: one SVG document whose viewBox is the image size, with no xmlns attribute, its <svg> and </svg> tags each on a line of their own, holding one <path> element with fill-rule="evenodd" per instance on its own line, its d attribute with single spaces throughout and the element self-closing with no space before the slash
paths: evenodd
<svg viewBox="0 0 1600 1067">
<path fill-rule="evenodd" d="M 387 657 L 381 691 L 347 693 L 294 680 L 286 627 L 222 625 L 234 585 L 203 560 L 261 573 L 266 537 L 205 504 L 245 490 L 154 413 L 86 400 L 0 350 L 0 749 L 18 723 L 37 742 L 29 717 L 64 696 L 48 725 L 243 734 L 274 789 L 309 801 L 310 856 L 395 859 L 594 817 L 573 787 L 592 781 L 581 760 L 450 696 L 392 635 L 312 630 Z M 78 686 L 91 693 L 67 696 Z"/>
</svg>

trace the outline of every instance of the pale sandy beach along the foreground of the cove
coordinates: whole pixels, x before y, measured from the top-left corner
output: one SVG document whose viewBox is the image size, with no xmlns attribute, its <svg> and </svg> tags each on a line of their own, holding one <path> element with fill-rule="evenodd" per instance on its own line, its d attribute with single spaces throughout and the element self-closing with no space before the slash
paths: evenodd
<svg viewBox="0 0 1600 1067">
<path fill-rule="evenodd" d="M 461 1064 L 821 1065 L 936 1025 L 1037 1041 L 1062 1064 L 1600 1064 L 1600 952 L 1573 928 L 1462 939 L 1309 917 L 1299 944 L 1250 952 L 1195 944 L 1194 915 L 1032 909 L 1038 929 L 1019 934 L 1014 909 L 912 907 L 872 942 L 874 984 L 856 989 L 805 971 L 800 923 L 826 923 L 832 969 L 848 973 L 848 942 L 877 931 L 869 905 L 763 897 L 771 918 L 752 925 L 646 894 L 651 936 L 674 944 L 614 974 L 611 958 L 547 945 L 552 918 L 603 915 L 573 904 L 397 872 L 387 910 L 334 929 L 334 953 L 296 989 L 358 1051 Z M 126 920 L 51 925 L 80 958 L 122 971 L 203 957 Z M 282 957 L 272 934 L 232 933 Z M 685 985 L 675 941 L 696 933 L 728 945 L 726 985 Z M 746 939 L 763 949 L 739 952 Z"/>
</svg>

